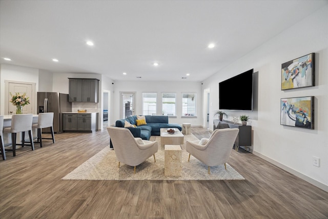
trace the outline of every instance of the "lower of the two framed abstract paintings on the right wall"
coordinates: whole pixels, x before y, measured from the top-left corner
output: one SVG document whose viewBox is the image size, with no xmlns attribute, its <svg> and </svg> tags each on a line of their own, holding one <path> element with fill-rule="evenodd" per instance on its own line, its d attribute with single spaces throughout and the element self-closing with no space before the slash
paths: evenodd
<svg viewBox="0 0 328 219">
<path fill-rule="evenodd" d="M 281 98 L 280 125 L 314 129 L 314 96 Z"/>
</svg>

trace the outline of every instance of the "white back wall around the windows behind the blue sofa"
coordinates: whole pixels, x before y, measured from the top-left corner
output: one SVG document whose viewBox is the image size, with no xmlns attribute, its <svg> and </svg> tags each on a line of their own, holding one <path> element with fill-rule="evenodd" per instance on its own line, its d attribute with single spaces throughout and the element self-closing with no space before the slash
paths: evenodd
<svg viewBox="0 0 328 219">
<path fill-rule="evenodd" d="M 135 114 L 142 114 L 142 93 L 157 93 L 157 111 L 161 108 L 161 93 L 176 93 L 176 117 L 169 117 L 169 123 L 191 123 L 192 126 L 202 126 L 202 93 L 200 82 L 136 82 L 136 81 L 117 81 L 114 82 L 114 106 L 112 114 L 114 114 L 112 123 L 120 119 L 120 92 L 136 92 Z M 182 116 L 182 93 L 196 93 L 196 113 L 197 117 L 181 117 Z M 159 108 L 158 108 L 159 106 Z"/>
</svg>

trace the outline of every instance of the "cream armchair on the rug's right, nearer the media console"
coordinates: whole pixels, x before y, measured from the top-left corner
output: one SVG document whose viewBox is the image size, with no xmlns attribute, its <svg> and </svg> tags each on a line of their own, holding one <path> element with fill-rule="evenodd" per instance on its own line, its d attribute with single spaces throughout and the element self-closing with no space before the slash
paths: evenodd
<svg viewBox="0 0 328 219">
<path fill-rule="evenodd" d="M 186 150 L 190 155 L 210 167 L 226 163 L 230 157 L 231 150 L 238 135 L 239 129 L 215 129 L 210 138 L 202 138 L 199 142 L 186 142 Z"/>
</svg>

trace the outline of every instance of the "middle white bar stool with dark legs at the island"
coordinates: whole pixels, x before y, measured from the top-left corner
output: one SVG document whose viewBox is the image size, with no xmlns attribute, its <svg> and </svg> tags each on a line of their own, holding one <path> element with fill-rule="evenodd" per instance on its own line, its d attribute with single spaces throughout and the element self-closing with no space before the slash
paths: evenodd
<svg viewBox="0 0 328 219">
<path fill-rule="evenodd" d="M 29 132 L 31 148 L 34 151 L 34 143 L 32 137 L 33 114 L 14 114 L 11 118 L 11 127 L 4 128 L 4 132 L 11 133 L 11 144 L 13 156 L 16 156 L 16 145 L 25 144 L 25 132 Z M 17 132 L 23 132 L 22 144 L 16 144 Z"/>
</svg>

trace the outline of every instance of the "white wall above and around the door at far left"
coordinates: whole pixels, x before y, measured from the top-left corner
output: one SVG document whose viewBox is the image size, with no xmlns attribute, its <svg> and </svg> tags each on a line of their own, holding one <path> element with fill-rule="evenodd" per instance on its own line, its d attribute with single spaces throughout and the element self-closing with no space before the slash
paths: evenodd
<svg viewBox="0 0 328 219">
<path fill-rule="evenodd" d="M 36 85 L 34 99 L 36 99 L 36 92 L 38 91 L 39 82 L 38 77 L 38 69 L 2 64 L 0 70 L 0 114 L 5 114 L 5 80 L 35 83 Z M 36 101 L 32 106 L 32 112 L 36 113 Z"/>
</svg>

